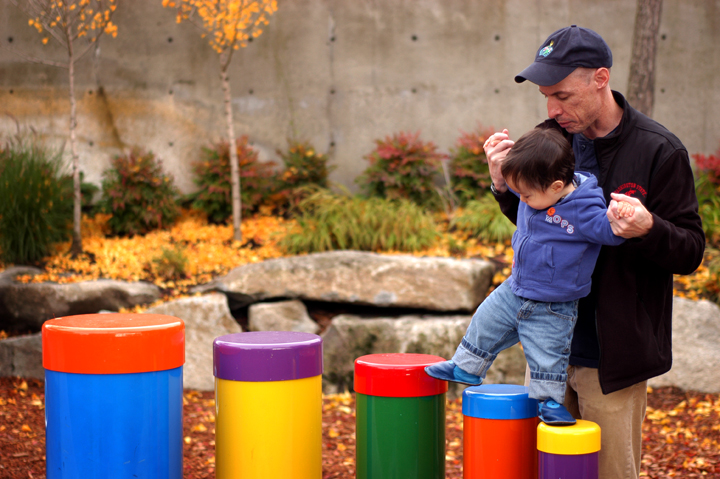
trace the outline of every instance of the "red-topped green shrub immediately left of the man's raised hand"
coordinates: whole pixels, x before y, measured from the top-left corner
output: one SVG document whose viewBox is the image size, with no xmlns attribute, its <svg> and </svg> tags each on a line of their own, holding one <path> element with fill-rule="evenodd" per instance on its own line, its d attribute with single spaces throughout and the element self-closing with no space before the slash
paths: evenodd
<svg viewBox="0 0 720 479">
<path fill-rule="evenodd" d="M 482 198 L 490 189 L 490 171 L 483 143 L 490 134 L 480 126 L 470 133 L 460 132 L 455 148 L 450 150 L 450 184 L 461 205 Z"/>
</svg>

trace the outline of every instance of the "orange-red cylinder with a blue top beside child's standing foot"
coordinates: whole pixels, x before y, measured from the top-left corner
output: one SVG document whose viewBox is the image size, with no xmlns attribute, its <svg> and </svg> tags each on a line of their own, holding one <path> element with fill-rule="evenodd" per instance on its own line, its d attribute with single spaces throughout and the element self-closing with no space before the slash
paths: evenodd
<svg viewBox="0 0 720 479">
<path fill-rule="evenodd" d="M 524 386 L 486 384 L 463 391 L 465 479 L 537 478 L 537 404 Z"/>
</svg>

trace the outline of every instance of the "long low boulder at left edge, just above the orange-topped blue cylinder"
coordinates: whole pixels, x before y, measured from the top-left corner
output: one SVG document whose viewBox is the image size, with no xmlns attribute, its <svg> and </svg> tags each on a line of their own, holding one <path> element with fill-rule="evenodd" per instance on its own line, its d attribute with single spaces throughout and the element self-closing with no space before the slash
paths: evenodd
<svg viewBox="0 0 720 479">
<path fill-rule="evenodd" d="M 151 283 L 110 279 L 71 284 L 18 283 L 20 274 L 36 269 L 9 268 L 0 273 L 0 327 L 13 331 L 39 331 L 48 319 L 76 314 L 118 311 L 149 304 L 160 298 Z"/>
</svg>

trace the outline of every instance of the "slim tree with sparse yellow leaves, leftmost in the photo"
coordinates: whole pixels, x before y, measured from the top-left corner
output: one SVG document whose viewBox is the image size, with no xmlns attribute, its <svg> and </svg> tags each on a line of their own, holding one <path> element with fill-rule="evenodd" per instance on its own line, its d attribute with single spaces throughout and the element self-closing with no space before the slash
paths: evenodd
<svg viewBox="0 0 720 479">
<path fill-rule="evenodd" d="M 103 33 L 117 36 L 117 27 L 112 23 L 116 0 L 10 0 L 19 10 L 30 17 L 28 24 L 43 35 L 46 45 L 52 38 L 67 51 L 67 61 L 36 58 L 17 49 L 14 53 L 27 61 L 68 69 L 70 81 L 70 150 L 73 169 L 73 236 L 70 248 L 73 256 L 82 253 L 80 233 L 81 202 L 80 161 L 77 153 L 75 128 L 77 107 L 75 101 L 75 63 L 97 46 Z"/>
</svg>

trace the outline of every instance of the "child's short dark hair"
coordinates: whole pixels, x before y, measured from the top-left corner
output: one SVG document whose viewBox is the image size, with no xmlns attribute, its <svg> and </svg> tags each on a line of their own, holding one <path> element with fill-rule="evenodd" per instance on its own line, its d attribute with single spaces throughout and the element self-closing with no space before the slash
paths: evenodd
<svg viewBox="0 0 720 479">
<path fill-rule="evenodd" d="M 572 146 L 557 130 L 535 128 L 515 142 L 502 162 L 502 175 L 506 181 L 538 191 L 558 180 L 569 185 L 575 175 Z"/>
</svg>

